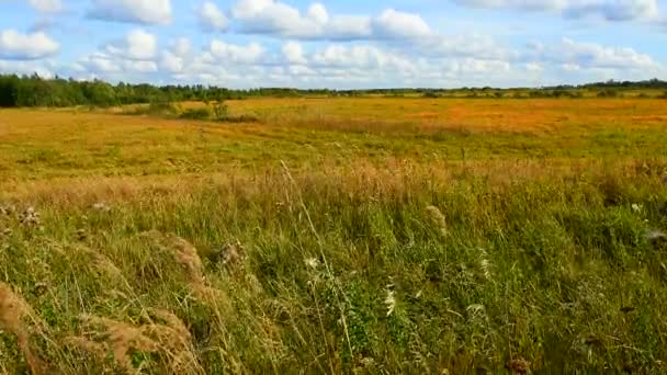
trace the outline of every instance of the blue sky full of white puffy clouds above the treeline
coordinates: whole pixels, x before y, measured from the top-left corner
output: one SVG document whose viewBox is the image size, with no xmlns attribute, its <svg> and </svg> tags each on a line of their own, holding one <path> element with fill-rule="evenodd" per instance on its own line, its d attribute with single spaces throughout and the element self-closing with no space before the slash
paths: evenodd
<svg viewBox="0 0 667 375">
<path fill-rule="evenodd" d="M 667 79 L 667 0 L 0 0 L 0 72 L 304 89 Z"/>
</svg>

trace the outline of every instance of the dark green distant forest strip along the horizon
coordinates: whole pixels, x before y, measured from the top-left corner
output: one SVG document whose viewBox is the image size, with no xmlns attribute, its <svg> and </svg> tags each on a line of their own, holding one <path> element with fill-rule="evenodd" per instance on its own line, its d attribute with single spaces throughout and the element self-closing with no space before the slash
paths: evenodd
<svg viewBox="0 0 667 375">
<path fill-rule="evenodd" d="M 580 86 L 555 86 L 543 88 L 495 89 L 372 89 L 372 90 L 299 90 L 290 88 L 259 88 L 231 90 L 213 86 L 152 86 L 147 83 L 111 84 L 104 81 L 77 81 L 74 79 L 44 79 L 37 75 L 0 75 L 0 106 L 115 106 L 139 103 L 162 103 L 181 101 L 223 102 L 248 98 L 298 98 L 298 96 L 425 96 L 425 98 L 583 98 L 618 96 L 629 90 L 665 90 L 660 98 L 667 98 L 667 81 L 607 81 Z M 644 96 L 644 94 L 640 94 Z M 655 95 L 654 95 L 655 96 Z"/>
</svg>

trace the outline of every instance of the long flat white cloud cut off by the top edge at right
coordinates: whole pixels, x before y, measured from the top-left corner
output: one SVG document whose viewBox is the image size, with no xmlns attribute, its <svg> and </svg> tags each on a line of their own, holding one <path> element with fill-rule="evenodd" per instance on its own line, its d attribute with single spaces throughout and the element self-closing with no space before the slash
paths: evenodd
<svg viewBox="0 0 667 375">
<path fill-rule="evenodd" d="M 593 16 L 607 21 L 657 19 L 658 0 L 452 0 L 474 8 L 508 8 L 561 13 L 568 18 Z"/>
</svg>

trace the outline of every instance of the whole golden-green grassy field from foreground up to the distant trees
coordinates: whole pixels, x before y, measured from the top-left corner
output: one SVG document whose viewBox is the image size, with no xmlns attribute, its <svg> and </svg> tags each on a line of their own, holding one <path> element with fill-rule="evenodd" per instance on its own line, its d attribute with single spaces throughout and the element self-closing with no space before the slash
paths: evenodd
<svg viewBox="0 0 667 375">
<path fill-rule="evenodd" d="M 667 372 L 664 99 L 227 104 L 0 110 L 0 374 Z"/>
</svg>

